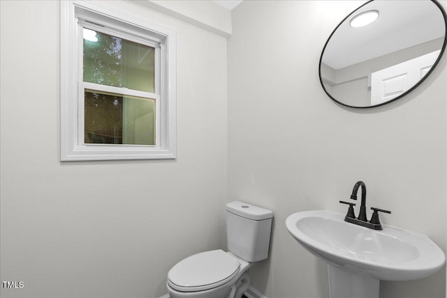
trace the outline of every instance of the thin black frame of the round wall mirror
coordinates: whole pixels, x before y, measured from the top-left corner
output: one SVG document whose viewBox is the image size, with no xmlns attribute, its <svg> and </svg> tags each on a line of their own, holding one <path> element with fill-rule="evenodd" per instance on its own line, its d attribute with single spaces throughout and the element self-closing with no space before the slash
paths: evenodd
<svg viewBox="0 0 447 298">
<path fill-rule="evenodd" d="M 447 14 L 446 14 L 446 10 L 444 10 L 444 7 L 441 6 L 441 4 L 437 1 L 437 0 L 430 0 L 432 1 L 438 8 L 439 10 L 441 10 L 441 13 L 444 17 L 444 26 L 446 27 L 446 30 L 444 31 L 444 43 L 442 45 L 441 48 L 441 52 L 439 53 L 438 58 L 436 59 L 436 61 L 434 61 L 432 68 L 430 68 L 430 70 L 427 72 L 427 74 L 418 81 L 418 83 L 414 84 L 411 88 L 409 88 L 409 90 L 405 91 L 404 93 L 402 93 L 401 95 L 393 98 L 392 100 L 388 100 L 387 102 L 382 102 L 381 104 L 375 104 L 373 106 L 365 106 L 365 107 L 354 107 L 351 106 L 349 104 L 344 104 L 343 102 L 339 102 L 339 100 L 336 100 L 334 97 L 332 97 L 332 95 L 330 95 L 330 93 L 326 90 L 324 84 L 323 84 L 323 79 L 321 77 L 321 61 L 323 60 L 323 54 L 324 51 L 326 49 L 326 47 L 328 46 L 328 42 L 330 40 L 330 38 L 332 38 L 332 36 L 334 35 L 335 31 L 337 31 L 337 29 L 339 28 L 339 26 L 341 26 L 343 24 L 343 22 L 348 19 L 349 17 L 351 17 L 351 15 L 353 15 L 354 13 L 356 13 L 357 10 L 359 10 L 360 8 L 362 8 L 363 6 L 367 5 L 368 3 L 371 3 L 374 0 L 370 0 L 367 1 L 366 3 L 362 4 L 362 6 L 359 6 L 356 10 L 353 10 L 352 13 L 350 13 L 349 15 L 347 15 L 344 19 L 342 19 L 342 22 L 340 22 L 337 27 L 335 27 L 335 29 L 332 31 L 332 33 L 330 33 L 330 36 L 328 37 L 328 40 L 326 40 L 325 45 L 323 47 L 323 50 L 321 51 L 321 56 L 320 56 L 320 61 L 318 64 L 318 76 L 320 77 L 320 83 L 321 86 L 323 87 L 324 92 L 330 97 L 331 100 L 337 102 L 338 104 L 341 104 L 344 107 L 350 107 L 350 108 L 355 108 L 355 109 L 369 109 L 369 108 L 374 108 L 374 107 L 380 107 L 383 106 L 385 104 L 389 104 L 391 102 L 394 102 L 396 100 L 399 100 L 400 98 L 408 95 L 409 93 L 411 93 L 413 90 L 415 90 L 416 88 L 418 88 L 418 86 L 420 86 L 420 84 L 423 83 L 423 81 L 425 81 L 425 79 L 427 79 L 427 77 L 430 76 L 430 74 L 433 72 L 433 70 L 436 68 L 436 66 L 438 65 L 439 61 L 441 60 L 442 56 L 444 55 L 444 51 L 446 49 L 446 45 L 447 45 Z"/>
</svg>

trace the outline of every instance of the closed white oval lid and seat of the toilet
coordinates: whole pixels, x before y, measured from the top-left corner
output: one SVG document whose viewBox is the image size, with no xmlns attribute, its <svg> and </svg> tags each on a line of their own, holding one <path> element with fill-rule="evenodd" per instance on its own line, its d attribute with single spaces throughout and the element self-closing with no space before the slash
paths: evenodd
<svg viewBox="0 0 447 298">
<path fill-rule="evenodd" d="M 217 288 L 233 279 L 239 267 L 240 262 L 221 249 L 197 253 L 170 269 L 168 285 L 182 292 Z"/>
</svg>

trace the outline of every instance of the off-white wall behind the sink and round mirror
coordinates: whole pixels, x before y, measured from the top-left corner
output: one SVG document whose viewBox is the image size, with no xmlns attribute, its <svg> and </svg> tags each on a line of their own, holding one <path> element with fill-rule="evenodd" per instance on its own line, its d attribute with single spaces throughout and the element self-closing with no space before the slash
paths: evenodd
<svg viewBox="0 0 447 298">
<path fill-rule="evenodd" d="M 446 7 L 446 1 L 442 1 Z M 328 297 L 323 261 L 288 234 L 301 210 L 346 212 L 358 180 L 385 224 L 446 249 L 447 57 L 423 85 L 384 107 L 340 107 L 318 80 L 339 1 L 243 1 L 228 40 L 229 197 L 274 212 L 270 259 L 251 269 L 270 298 Z M 343 11 L 341 13 L 344 13 Z M 445 297 L 445 267 L 427 279 L 381 283 L 381 297 Z"/>
</svg>

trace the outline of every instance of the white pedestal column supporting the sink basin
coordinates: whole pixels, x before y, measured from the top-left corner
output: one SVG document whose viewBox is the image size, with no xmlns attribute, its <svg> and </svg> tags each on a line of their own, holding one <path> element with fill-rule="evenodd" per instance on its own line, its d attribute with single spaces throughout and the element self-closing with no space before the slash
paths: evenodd
<svg viewBox="0 0 447 298">
<path fill-rule="evenodd" d="M 379 298 L 378 279 L 328 265 L 330 298 Z"/>
</svg>

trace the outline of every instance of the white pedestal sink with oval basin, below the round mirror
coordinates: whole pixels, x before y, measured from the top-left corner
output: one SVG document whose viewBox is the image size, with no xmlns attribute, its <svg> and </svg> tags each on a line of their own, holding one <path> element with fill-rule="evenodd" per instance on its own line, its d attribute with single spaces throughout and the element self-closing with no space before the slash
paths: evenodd
<svg viewBox="0 0 447 298">
<path fill-rule="evenodd" d="M 328 210 L 286 219 L 287 230 L 307 251 L 328 263 L 331 298 L 379 297 L 379 281 L 422 279 L 446 261 L 426 235 L 383 225 L 372 230 Z"/>
</svg>

